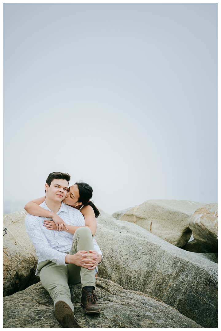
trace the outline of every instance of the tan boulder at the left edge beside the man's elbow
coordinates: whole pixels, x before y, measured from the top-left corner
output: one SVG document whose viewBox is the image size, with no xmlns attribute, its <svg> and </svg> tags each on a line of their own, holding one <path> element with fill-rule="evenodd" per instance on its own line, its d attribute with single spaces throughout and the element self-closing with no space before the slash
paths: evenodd
<svg viewBox="0 0 221 331">
<path fill-rule="evenodd" d="M 3 217 L 3 296 L 39 281 L 35 249 L 25 229 L 26 215 L 22 209 Z"/>
</svg>

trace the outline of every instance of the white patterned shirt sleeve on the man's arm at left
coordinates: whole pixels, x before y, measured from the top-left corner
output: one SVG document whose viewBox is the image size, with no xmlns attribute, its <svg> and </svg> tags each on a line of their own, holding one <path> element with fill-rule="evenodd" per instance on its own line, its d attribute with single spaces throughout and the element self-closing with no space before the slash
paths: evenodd
<svg viewBox="0 0 221 331">
<path fill-rule="evenodd" d="M 25 218 L 25 227 L 38 258 L 50 260 L 58 265 L 66 265 L 65 257 L 67 254 L 56 251 L 50 247 L 49 242 L 41 230 L 37 216 L 28 214 Z"/>
</svg>

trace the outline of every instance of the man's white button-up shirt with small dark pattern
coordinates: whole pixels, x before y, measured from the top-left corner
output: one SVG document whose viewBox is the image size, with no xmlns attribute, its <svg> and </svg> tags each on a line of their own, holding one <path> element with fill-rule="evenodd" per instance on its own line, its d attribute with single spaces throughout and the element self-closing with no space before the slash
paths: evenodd
<svg viewBox="0 0 221 331">
<path fill-rule="evenodd" d="M 45 201 L 40 205 L 40 207 L 51 211 Z M 79 212 L 79 210 L 64 204 L 63 202 L 61 203 L 61 207 L 57 215 L 68 225 L 85 226 L 85 220 L 82 213 Z M 52 218 L 49 217 L 33 216 L 30 214 L 28 214 L 25 218 L 26 231 L 36 250 L 38 263 L 45 260 L 50 260 L 52 262 L 56 262 L 58 265 L 66 265 L 65 257 L 67 252 L 71 250 L 74 235 L 66 231 L 46 229 L 43 225 L 43 221 L 46 219 L 52 220 Z M 95 237 L 93 237 L 93 244 L 94 250 L 102 256 L 100 247 L 97 245 Z"/>
</svg>

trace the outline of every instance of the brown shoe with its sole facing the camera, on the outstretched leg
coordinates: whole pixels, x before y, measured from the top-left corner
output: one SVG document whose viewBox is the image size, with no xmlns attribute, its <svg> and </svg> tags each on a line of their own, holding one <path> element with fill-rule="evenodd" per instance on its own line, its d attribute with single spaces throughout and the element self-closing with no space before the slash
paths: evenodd
<svg viewBox="0 0 221 331">
<path fill-rule="evenodd" d="M 65 328 L 81 328 L 71 307 L 64 301 L 57 301 L 54 306 L 55 316 Z"/>
</svg>

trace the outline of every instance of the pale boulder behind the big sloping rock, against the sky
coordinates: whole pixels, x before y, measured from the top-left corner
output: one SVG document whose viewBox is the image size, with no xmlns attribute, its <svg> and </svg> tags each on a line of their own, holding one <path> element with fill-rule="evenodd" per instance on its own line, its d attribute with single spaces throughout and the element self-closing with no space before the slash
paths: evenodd
<svg viewBox="0 0 221 331">
<path fill-rule="evenodd" d="M 147 200 L 128 210 L 119 219 L 136 223 L 157 237 L 182 247 L 192 234 L 189 228 L 191 216 L 204 205 L 185 200 Z M 117 213 L 120 214 L 114 214 Z"/>
</svg>

